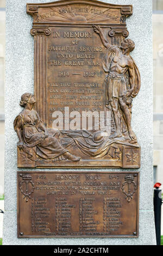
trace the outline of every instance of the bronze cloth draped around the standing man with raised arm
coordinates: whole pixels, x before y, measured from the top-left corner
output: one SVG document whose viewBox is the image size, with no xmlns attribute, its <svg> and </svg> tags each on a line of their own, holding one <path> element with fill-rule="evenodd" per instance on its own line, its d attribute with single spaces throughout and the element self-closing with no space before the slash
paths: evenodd
<svg viewBox="0 0 163 256">
<path fill-rule="evenodd" d="M 112 59 L 114 57 L 121 58 L 122 50 L 117 46 L 109 46 L 106 48 L 104 57 L 103 57 L 103 69 L 105 72 L 108 72 L 108 75 L 105 78 L 105 105 L 109 105 L 110 101 L 112 101 L 112 97 L 118 97 L 125 95 L 124 92 L 130 89 L 129 84 L 129 74 L 128 71 L 122 74 L 112 74 L 114 72 L 110 71 L 110 66 Z M 130 56 L 131 58 L 131 56 Z M 131 58 L 133 60 L 133 58 Z M 133 60 L 134 63 L 134 92 L 132 97 L 135 97 L 140 90 L 140 73 L 139 70 Z"/>
</svg>

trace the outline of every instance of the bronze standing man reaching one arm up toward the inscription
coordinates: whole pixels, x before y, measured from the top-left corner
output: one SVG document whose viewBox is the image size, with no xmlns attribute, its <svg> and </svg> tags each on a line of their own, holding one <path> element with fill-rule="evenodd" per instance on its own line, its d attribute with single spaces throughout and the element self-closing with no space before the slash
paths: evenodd
<svg viewBox="0 0 163 256">
<path fill-rule="evenodd" d="M 130 57 L 130 52 L 134 50 L 135 44 L 132 40 L 122 41 L 121 48 L 113 46 L 105 38 L 102 29 L 93 25 L 94 31 L 99 34 L 103 45 L 107 48 L 104 56 L 103 68 L 108 72 L 106 78 L 106 96 L 108 98 L 105 105 L 111 105 L 114 114 L 116 131 L 109 138 L 122 137 L 121 114 L 118 106 L 121 107 L 123 118 L 126 122 L 128 134 L 131 141 L 136 141 L 136 135 L 131 129 L 131 114 L 124 97 L 132 97 L 135 86 L 135 74 L 139 80 L 140 75 L 137 67 Z M 127 84 L 124 75 L 128 71 L 130 88 L 127 90 Z"/>
</svg>

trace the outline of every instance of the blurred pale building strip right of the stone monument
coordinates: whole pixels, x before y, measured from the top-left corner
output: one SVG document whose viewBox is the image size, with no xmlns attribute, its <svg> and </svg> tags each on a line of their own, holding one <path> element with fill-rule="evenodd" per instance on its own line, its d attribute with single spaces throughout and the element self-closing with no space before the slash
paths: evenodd
<svg viewBox="0 0 163 256">
<path fill-rule="evenodd" d="M 153 0 L 154 182 L 163 185 L 163 1 Z M 163 187 L 163 186 L 162 186 Z"/>
</svg>

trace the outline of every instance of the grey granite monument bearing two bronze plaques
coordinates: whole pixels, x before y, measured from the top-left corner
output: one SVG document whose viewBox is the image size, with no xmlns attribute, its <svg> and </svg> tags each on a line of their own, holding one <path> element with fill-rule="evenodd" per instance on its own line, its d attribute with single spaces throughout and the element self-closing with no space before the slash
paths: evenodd
<svg viewBox="0 0 163 256">
<path fill-rule="evenodd" d="M 154 245 L 152 1 L 26 4 L 7 1 L 3 243 Z"/>
</svg>

